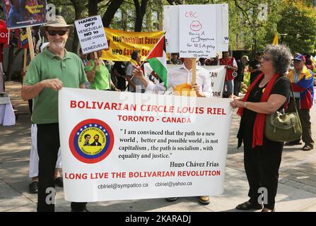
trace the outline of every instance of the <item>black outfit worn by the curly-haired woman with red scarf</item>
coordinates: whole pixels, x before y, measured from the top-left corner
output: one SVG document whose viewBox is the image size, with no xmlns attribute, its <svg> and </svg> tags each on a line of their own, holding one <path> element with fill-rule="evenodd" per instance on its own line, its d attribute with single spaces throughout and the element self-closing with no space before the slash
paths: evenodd
<svg viewBox="0 0 316 226">
<path fill-rule="evenodd" d="M 260 81 L 252 89 L 247 102 L 260 102 L 266 86 L 259 88 L 259 83 Z M 286 77 L 282 77 L 276 81 L 270 95 L 279 94 L 288 99 L 290 92 L 291 81 Z M 284 105 L 279 110 L 283 109 L 283 107 Z M 263 194 L 266 197 L 264 207 L 274 209 L 283 143 L 269 141 L 264 136 L 263 145 L 252 148 L 252 134 L 256 116 L 257 112 L 244 109 L 238 131 L 238 148 L 243 141 L 245 172 L 250 185 L 248 194 L 250 203 L 258 202 L 258 197 L 261 195 L 258 191 L 260 188 L 264 188 L 267 189 L 267 196 Z"/>
</svg>

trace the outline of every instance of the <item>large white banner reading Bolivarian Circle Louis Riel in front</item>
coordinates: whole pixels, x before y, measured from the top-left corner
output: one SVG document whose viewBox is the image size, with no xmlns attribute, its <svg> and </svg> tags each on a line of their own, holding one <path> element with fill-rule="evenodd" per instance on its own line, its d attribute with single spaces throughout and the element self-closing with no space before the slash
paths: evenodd
<svg viewBox="0 0 316 226">
<path fill-rule="evenodd" d="M 63 88 L 65 199 L 222 194 L 230 101 Z"/>
</svg>

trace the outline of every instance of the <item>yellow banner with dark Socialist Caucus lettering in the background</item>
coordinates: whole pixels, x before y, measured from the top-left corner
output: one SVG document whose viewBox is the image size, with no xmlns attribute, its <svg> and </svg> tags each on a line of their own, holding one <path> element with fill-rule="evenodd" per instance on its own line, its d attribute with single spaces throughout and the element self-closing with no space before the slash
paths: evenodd
<svg viewBox="0 0 316 226">
<path fill-rule="evenodd" d="M 102 59 L 130 61 L 131 53 L 134 50 L 139 50 L 141 60 L 144 60 L 163 33 L 163 31 L 126 32 L 124 30 L 105 28 L 109 49 L 103 51 Z"/>
</svg>

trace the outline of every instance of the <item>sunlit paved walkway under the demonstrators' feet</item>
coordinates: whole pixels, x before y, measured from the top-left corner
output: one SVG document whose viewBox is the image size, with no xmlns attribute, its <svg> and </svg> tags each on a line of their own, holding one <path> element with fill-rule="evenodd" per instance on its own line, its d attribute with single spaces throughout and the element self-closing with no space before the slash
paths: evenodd
<svg viewBox="0 0 316 226">
<path fill-rule="evenodd" d="M 0 126 L 0 211 L 35 211 L 36 194 L 28 194 L 30 155 L 30 116 L 28 103 L 21 100 L 19 83 L 6 83 L 13 106 L 20 114 L 16 126 Z M 316 141 L 316 107 L 311 111 L 313 139 Z M 235 206 L 247 200 L 248 184 L 243 167 L 242 148 L 237 150 L 239 118 L 234 114 L 226 167 L 225 191 L 211 197 L 209 206 L 196 198 L 179 198 L 167 203 L 163 198 L 88 203 L 91 211 L 238 211 Z M 280 169 L 276 211 L 316 211 L 316 153 L 285 147 Z M 57 188 L 57 211 L 69 211 L 62 189 Z"/>
</svg>

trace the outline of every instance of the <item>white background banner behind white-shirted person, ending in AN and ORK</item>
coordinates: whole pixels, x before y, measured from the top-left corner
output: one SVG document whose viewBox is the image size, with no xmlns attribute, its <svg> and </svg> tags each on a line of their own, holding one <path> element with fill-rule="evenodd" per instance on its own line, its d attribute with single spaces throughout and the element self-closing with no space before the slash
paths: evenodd
<svg viewBox="0 0 316 226">
<path fill-rule="evenodd" d="M 173 69 L 179 65 L 167 64 L 168 70 Z M 223 96 L 223 88 L 225 83 L 226 68 L 225 66 L 201 66 L 209 71 L 209 77 L 211 79 L 212 97 Z M 147 73 L 146 73 L 147 72 Z M 148 74 L 148 69 L 145 69 L 145 74 Z"/>
</svg>

